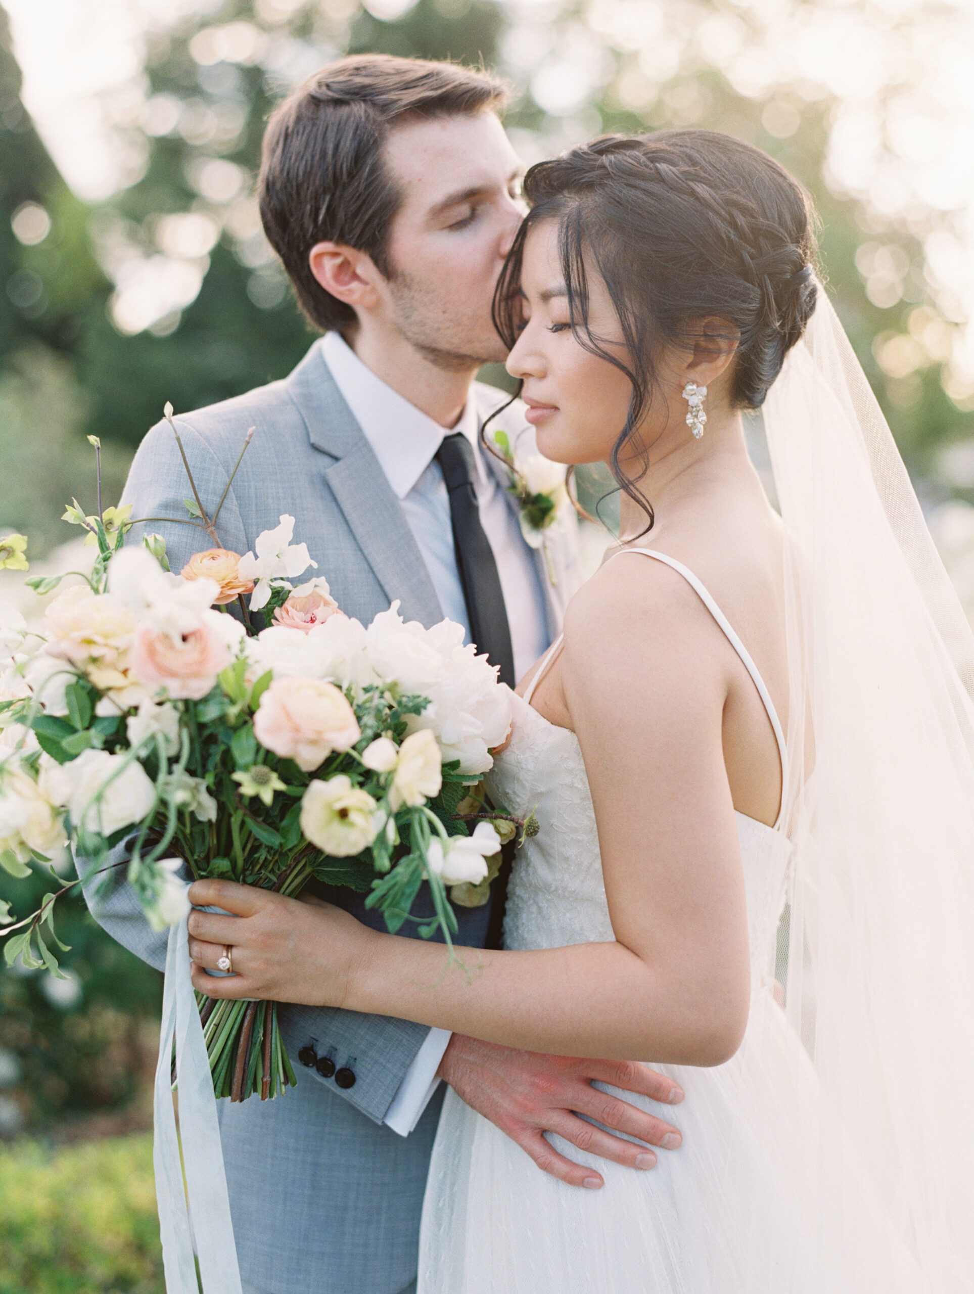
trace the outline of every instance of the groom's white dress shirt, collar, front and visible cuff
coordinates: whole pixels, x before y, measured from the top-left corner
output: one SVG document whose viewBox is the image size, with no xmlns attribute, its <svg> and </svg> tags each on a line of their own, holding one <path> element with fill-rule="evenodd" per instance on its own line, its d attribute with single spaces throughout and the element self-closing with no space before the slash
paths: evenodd
<svg viewBox="0 0 974 1294">
<path fill-rule="evenodd" d="M 484 463 L 473 399 L 467 401 L 455 427 L 441 427 L 362 364 L 340 333 L 326 334 L 322 347 L 335 386 L 402 506 L 444 616 L 463 625 L 467 642 L 470 621 L 457 569 L 450 499 L 435 455 L 444 436 L 453 431 L 462 431 L 473 446 L 480 520 L 497 562 L 511 626 L 514 668 L 520 678 L 548 646 L 545 595 L 534 555 L 524 542 L 517 518 L 503 488 Z M 436 1070 L 450 1036 L 445 1029 L 429 1030 L 392 1100 L 385 1123 L 401 1136 L 413 1131 L 436 1091 Z"/>
</svg>

